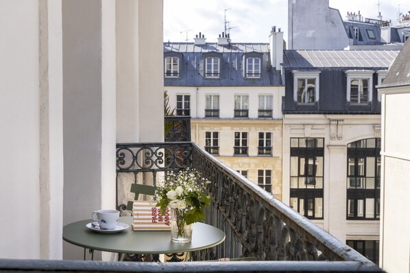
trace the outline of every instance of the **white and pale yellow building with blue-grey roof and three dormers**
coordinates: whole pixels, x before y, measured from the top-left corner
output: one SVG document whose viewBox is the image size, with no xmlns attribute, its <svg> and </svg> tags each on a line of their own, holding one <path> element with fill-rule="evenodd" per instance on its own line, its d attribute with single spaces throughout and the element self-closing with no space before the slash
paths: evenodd
<svg viewBox="0 0 410 273">
<path fill-rule="evenodd" d="M 225 164 L 276 197 L 282 194 L 283 34 L 266 44 L 164 44 L 165 90 L 191 135 Z"/>
</svg>

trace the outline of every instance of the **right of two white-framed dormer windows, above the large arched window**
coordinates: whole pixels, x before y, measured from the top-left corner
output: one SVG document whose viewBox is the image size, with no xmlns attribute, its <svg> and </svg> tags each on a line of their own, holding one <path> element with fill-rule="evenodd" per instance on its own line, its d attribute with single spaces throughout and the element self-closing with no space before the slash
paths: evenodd
<svg viewBox="0 0 410 273">
<path fill-rule="evenodd" d="M 347 75 L 347 101 L 350 104 L 367 104 L 372 101 L 373 92 L 373 71 L 372 70 L 348 70 Z"/>
</svg>

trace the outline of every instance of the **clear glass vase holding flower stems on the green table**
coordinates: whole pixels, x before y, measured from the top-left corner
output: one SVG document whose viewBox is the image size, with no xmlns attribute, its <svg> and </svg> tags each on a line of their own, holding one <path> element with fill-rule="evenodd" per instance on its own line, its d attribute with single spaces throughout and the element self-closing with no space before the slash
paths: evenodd
<svg viewBox="0 0 410 273">
<path fill-rule="evenodd" d="M 187 243 L 192 241 L 192 224 L 186 224 L 184 209 L 171 209 L 171 241 Z"/>
</svg>

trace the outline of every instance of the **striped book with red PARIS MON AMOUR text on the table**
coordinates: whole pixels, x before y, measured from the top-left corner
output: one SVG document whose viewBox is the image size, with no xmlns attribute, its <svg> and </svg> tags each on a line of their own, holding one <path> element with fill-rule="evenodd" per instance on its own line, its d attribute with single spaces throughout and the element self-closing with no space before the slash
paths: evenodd
<svg viewBox="0 0 410 273">
<path fill-rule="evenodd" d="M 134 231 L 170 231 L 171 211 L 167 208 L 165 215 L 160 207 L 152 201 L 135 200 L 132 205 L 132 229 Z"/>
</svg>

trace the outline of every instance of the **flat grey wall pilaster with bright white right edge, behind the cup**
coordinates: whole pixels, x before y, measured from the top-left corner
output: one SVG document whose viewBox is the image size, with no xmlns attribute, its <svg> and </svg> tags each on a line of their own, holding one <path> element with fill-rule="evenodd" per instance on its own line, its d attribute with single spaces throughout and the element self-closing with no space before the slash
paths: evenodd
<svg viewBox="0 0 410 273">
<path fill-rule="evenodd" d="M 64 224 L 115 207 L 114 18 L 113 0 L 62 1 Z"/>
</svg>

